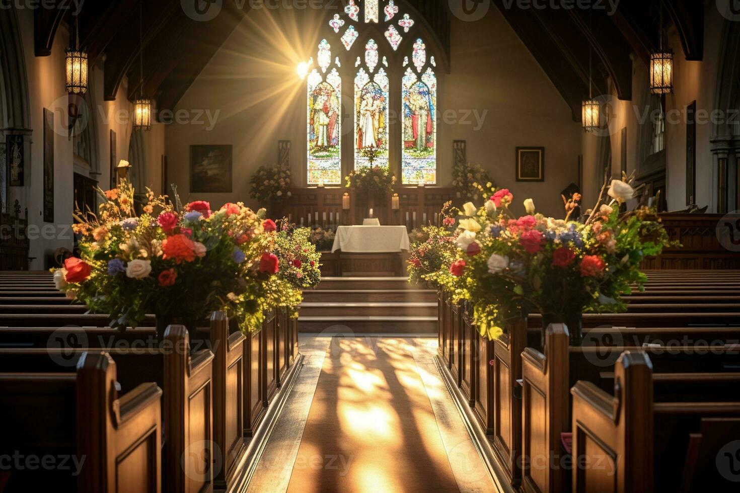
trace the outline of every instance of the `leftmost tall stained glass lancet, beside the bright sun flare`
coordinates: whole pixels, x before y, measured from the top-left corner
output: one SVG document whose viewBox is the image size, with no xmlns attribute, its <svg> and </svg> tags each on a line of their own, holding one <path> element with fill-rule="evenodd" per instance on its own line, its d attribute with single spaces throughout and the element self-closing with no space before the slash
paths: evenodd
<svg viewBox="0 0 740 493">
<path fill-rule="evenodd" d="M 341 109 L 342 79 L 332 68 L 332 52 L 321 40 L 317 61 L 321 72 L 313 69 L 308 77 L 308 183 L 337 184 L 342 180 Z M 322 75 L 323 74 L 323 75 Z"/>
</svg>

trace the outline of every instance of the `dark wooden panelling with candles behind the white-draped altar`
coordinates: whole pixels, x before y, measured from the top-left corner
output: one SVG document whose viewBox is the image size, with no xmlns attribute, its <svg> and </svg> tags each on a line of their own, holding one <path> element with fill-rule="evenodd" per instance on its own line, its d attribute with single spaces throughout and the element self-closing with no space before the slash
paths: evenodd
<svg viewBox="0 0 740 493">
<path fill-rule="evenodd" d="M 354 188 L 291 188 L 291 197 L 268 208 L 270 217 L 288 217 L 298 225 L 336 229 L 338 225 L 362 224 L 373 216 L 383 225 L 405 225 L 408 231 L 424 224 L 437 224 L 442 206 L 457 199 L 454 188 L 437 186 L 404 186 L 398 194 L 398 208 L 393 208 L 391 195 L 368 197 Z M 343 207 L 343 195 L 349 194 L 349 208 Z M 347 204 L 345 204 L 346 206 Z M 460 204 L 457 204 L 460 205 Z"/>
</svg>

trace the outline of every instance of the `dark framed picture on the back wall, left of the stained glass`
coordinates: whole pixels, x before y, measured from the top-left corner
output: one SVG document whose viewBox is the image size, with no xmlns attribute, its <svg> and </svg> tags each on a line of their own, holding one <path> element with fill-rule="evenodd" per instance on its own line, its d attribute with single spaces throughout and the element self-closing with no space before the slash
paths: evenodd
<svg viewBox="0 0 740 493">
<path fill-rule="evenodd" d="M 190 146 L 190 192 L 232 191 L 232 146 Z"/>
</svg>

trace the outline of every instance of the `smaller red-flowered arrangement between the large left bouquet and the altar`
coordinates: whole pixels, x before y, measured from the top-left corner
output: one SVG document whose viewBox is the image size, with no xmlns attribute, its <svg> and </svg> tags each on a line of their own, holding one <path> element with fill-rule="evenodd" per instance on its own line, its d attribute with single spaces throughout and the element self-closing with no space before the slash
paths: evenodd
<svg viewBox="0 0 740 493">
<path fill-rule="evenodd" d="M 295 318 L 303 302 L 303 289 L 313 288 L 321 280 L 321 254 L 309 241 L 311 230 L 285 220 L 280 223 L 266 262 L 266 271 L 275 275 L 257 279 L 239 296 L 229 296 L 229 314 L 240 320 L 243 331 L 257 330 L 264 313 L 276 307 L 286 308 Z"/>
</svg>

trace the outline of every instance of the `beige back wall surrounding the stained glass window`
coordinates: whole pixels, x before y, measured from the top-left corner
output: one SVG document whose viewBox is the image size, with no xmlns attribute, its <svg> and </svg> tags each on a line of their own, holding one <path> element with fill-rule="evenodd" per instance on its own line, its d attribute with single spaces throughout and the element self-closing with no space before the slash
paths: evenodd
<svg viewBox="0 0 740 493">
<path fill-rule="evenodd" d="M 315 58 L 320 32 L 326 33 L 323 27 L 332 13 L 253 10 L 226 40 L 177 108 L 184 115 L 209 110 L 212 116 L 218 115 L 215 127 L 206 129 L 207 118 L 203 118 L 205 125 L 166 126 L 170 176 L 178 183 L 182 197 L 187 197 L 189 191 L 192 144 L 233 146 L 232 193 L 198 194 L 213 203 L 250 203 L 249 177 L 258 166 L 275 162 L 280 139 L 292 141 L 294 181 L 297 185 L 304 183 L 306 87 L 305 81 L 295 75 L 295 67 L 309 56 Z M 338 35 L 331 34 L 328 39 L 332 48 L 340 47 Z M 576 181 L 581 144 L 580 128 L 571 119 L 570 109 L 496 9 L 491 8 L 480 21 L 453 18 L 451 35 L 451 72 L 436 70 L 442 118 L 438 126 L 437 183 L 451 183 L 452 140 L 467 140 L 468 160 L 482 164 L 499 186 L 510 188 L 519 211 L 522 200 L 533 197 L 540 211 L 562 215 L 559 191 Z M 357 43 L 361 40 L 362 31 Z M 381 50 L 386 50 L 382 34 L 379 44 Z M 410 54 L 408 45 L 400 47 L 400 59 Z M 435 58 L 440 59 L 440 54 Z M 346 113 L 351 111 L 351 82 L 349 77 L 343 79 Z M 394 84 L 399 87 L 397 81 L 391 81 L 391 108 L 394 104 L 400 106 Z M 343 121 L 345 145 L 351 141 L 350 122 L 348 118 Z M 395 131 L 391 122 L 391 145 L 397 141 Z M 515 182 L 516 146 L 545 147 L 545 183 Z M 397 166 L 392 156 L 391 166 Z"/>
</svg>

